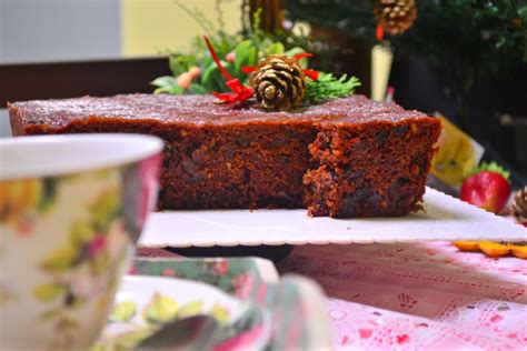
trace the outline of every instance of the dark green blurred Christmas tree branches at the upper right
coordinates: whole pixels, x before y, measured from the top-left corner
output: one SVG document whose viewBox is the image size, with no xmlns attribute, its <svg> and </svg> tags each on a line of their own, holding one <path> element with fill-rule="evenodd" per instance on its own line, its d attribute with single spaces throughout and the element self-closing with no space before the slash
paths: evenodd
<svg viewBox="0 0 527 351">
<path fill-rule="evenodd" d="M 288 0 L 294 21 L 345 30 L 376 41 L 374 0 Z M 396 54 L 422 59 L 451 88 L 468 127 L 475 87 L 513 77 L 527 62 L 527 0 L 416 0 L 417 20 L 386 33 Z"/>
</svg>

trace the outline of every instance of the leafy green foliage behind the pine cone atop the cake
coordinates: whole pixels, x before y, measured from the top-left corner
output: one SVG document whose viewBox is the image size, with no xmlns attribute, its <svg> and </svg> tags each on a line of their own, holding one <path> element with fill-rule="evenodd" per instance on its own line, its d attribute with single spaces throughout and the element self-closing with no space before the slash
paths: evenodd
<svg viewBox="0 0 527 351">
<path fill-rule="evenodd" d="M 226 70 L 242 84 L 248 84 L 249 74 L 241 72 L 241 68 L 243 66 L 255 66 L 259 59 L 269 54 L 294 56 L 306 51 L 315 54 L 320 52 L 320 49 L 316 48 L 307 36 L 294 36 L 286 32 L 264 33 L 258 29 L 260 11 L 257 11 L 255 14 L 255 26 L 247 32 L 227 34 L 221 30 L 223 28 L 223 18 L 219 2 L 217 2 L 216 7 L 218 13 L 217 23 L 212 23 L 201 12 L 190 10 L 179 1 L 176 1 L 176 4 L 201 26 L 203 33 L 207 33 L 209 37 Z M 227 60 L 229 53 L 230 56 L 233 53 L 233 60 Z M 306 67 L 307 59 L 302 59 L 300 64 Z M 169 67 L 172 76 L 159 77 L 151 82 L 152 86 L 157 87 L 155 93 L 182 94 L 230 91 L 225 84 L 221 72 L 210 57 L 203 38 L 200 36 L 191 39 L 191 44 L 187 52 L 170 53 Z M 199 68 L 201 74 L 195 78 L 189 87 L 182 88 L 178 83 L 177 77 L 189 72 L 192 68 Z"/>
</svg>

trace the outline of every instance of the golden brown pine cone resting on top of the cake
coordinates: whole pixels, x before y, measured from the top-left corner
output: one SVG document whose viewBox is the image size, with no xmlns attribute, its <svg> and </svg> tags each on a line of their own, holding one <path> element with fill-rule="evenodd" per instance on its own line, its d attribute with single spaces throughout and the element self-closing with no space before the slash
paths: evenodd
<svg viewBox="0 0 527 351">
<path fill-rule="evenodd" d="M 266 110 L 287 111 L 300 106 L 306 94 L 306 74 L 297 60 L 286 56 L 261 59 L 249 81 Z"/>
</svg>

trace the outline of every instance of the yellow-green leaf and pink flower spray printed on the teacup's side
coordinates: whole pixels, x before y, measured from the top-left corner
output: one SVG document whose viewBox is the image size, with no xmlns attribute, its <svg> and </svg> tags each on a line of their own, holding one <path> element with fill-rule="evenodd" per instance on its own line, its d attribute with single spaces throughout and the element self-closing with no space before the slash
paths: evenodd
<svg viewBox="0 0 527 351">
<path fill-rule="evenodd" d="M 126 255 L 122 251 L 112 257 L 109 248 L 112 240 L 122 241 L 122 237 L 126 235 L 122 231 L 123 211 L 119 188 L 112 187 L 100 193 L 87 210 L 89 215 L 84 220 L 77 220 L 70 224 L 67 241 L 41 261 L 40 269 L 52 279 L 33 288 L 37 300 L 51 304 L 40 314 L 40 319 L 54 323 L 64 340 L 73 338 L 70 331 L 80 325 L 69 315 L 70 312 L 86 305 L 93 293 L 107 291 L 98 301 L 100 312 L 106 312 L 110 295 L 117 287 L 116 264 Z M 121 250 L 123 249 L 126 247 Z M 77 273 L 71 274 L 72 271 Z M 90 278 L 82 275 L 101 279 L 89 282 Z M 56 301 L 60 303 L 52 303 Z"/>
</svg>

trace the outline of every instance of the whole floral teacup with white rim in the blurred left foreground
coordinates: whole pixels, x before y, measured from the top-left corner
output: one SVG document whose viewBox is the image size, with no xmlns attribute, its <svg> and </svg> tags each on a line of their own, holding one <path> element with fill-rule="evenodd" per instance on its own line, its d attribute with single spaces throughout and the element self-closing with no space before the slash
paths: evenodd
<svg viewBox="0 0 527 351">
<path fill-rule="evenodd" d="M 151 210 L 160 139 L 0 139 L 0 349 L 97 339 Z"/>
</svg>

